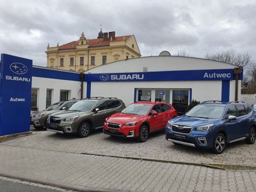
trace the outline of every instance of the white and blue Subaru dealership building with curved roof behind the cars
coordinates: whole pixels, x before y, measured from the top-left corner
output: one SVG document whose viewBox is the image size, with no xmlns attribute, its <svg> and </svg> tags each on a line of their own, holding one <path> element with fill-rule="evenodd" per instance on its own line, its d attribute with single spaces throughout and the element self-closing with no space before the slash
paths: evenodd
<svg viewBox="0 0 256 192">
<path fill-rule="evenodd" d="M 185 106 L 192 99 L 239 100 L 243 78 L 239 70 L 228 63 L 180 56 L 116 61 L 84 75 L 34 66 L 32 106 L 42 110 L 59 100 L 97 96 L 118 97 L 125 105 L 140 100 Z"/>
</svg>

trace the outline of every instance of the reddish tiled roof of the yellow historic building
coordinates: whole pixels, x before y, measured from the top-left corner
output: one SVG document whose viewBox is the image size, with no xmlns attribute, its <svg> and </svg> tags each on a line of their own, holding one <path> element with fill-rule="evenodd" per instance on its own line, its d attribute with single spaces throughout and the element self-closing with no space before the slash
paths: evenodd
<svg viewBox="0 0 256 192">
<path fill-rule="evenodd" d="M 115 40 L 113 42 L 119 42 L 122 40 L 127 40 L 130 38 L 131 35 L 125 35 L 125 36 L 116 36 Z M 109 40 L 104 41 L 103 38 L 95 38 L 90 39 L 89 41 L 89 47 L 103 47 L 103 46 L 109 46 Z M 59 50 L 63 49 L 76 49 L 76 46 L 78 45 L 79 41 L 70 42 L 68 44 L 60 45 Z"/>
</svg>

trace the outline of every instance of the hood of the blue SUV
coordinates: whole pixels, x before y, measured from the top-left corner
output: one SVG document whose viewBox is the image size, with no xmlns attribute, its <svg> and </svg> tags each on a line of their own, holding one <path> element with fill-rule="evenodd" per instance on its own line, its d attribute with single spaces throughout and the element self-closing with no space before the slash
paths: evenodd
<svg viewBox="0 0 256 192">
<path fill-rule="evenodd" d="M 198 127 L 201 125 L 215 124 L 218 121 L 219 121 L 218 119 L 197 118 L 197 117 L 189 117 L 189 116 L 183 115 L 183 116 L 172 118 L 170 122 L 171 124 L 180 124 L 180 125 L 189 125 L 192 127 Z"/>
</svg>

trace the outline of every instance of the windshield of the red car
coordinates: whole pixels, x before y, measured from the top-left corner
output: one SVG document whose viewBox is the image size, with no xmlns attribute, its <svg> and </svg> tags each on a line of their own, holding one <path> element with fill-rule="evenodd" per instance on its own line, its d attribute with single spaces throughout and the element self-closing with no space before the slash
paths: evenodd
<svg viewBox="0 0 256 192">
<path fill-rule="evenodd" d="M 133 115 L 145 115 L 152 105 L 148 104 L 131 104 L 125 108 L 122 113 L 133 114 Z"/>
</svg>

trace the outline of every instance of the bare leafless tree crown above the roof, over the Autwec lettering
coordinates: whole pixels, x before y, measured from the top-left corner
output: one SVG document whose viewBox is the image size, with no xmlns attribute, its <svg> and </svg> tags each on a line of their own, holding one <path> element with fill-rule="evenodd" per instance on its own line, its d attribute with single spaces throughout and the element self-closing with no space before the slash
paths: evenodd
<svg viewBox="0 0 256 192">
<path fill-rule="evenodd" d="M 250 67 L 255 62 L 252 60 L 252 57 L 247 52 L 237 52 L 234 49 L 229 49 L 223 52 L 217 52 L 214 54 L 207 53 L 205 55 L 206 59 L 214 61 L 222 61 L 225 63 L 232 63 L 239 67 Z"/>
</svg>

